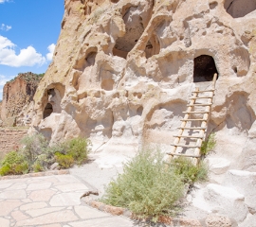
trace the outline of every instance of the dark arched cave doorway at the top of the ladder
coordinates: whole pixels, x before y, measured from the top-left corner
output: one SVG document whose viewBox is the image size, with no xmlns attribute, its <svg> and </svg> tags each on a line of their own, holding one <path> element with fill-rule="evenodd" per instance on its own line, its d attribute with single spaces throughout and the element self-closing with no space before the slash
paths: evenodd
<svg viewBox="0 0 256 227">
<path fill-rule="evenodd" d="M 215 61 L 209 55 L 201 55 L 193 60 L 193 82 L 211 81 L 218 75 Z"/>
</svg>

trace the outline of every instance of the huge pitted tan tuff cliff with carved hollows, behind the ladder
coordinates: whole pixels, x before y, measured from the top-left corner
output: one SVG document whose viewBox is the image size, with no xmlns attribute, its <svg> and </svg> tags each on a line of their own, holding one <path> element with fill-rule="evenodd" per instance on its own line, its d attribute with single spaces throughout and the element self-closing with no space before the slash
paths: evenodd
<svg viewBox="0 0 256 227">
<path fill-rule="evenodd" d="M 106 155 L 144 145 L 167 151 L 192 90 L 217 73 L 208 129 L 217 147 L 207 158 L 210 184 L 193 205 L 253 226 L 256 2 L 65 0 L 64 7 L 30 131 L 51 142 L 86 136 Z"/>
</svg>

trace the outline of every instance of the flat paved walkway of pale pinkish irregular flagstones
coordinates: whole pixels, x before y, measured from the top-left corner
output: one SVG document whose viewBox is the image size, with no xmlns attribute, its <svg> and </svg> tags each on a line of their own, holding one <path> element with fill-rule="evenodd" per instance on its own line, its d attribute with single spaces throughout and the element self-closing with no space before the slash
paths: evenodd
<svg viewBox="0 0 256 227">
<path fill-rule="evenodd" d="M 0 181 L 0 226 L 131 227 L 129 218 L 114 217 L 82 204 L 89 185 L 72 175 Z"/>
</svg>

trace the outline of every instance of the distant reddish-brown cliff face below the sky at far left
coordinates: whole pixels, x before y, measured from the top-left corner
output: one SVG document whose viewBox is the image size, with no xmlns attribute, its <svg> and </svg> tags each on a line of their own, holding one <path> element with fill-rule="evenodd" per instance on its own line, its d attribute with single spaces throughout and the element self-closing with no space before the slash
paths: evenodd
<svg viewBox="0 0 256 227">
<path fill-rule="evenodd" d="M 3 89 L 1 118 L 6 126 L 28 125 L 31 118 L 33 96 L 41 76 L 19 74 L 7 82 Z"/>
</svg>

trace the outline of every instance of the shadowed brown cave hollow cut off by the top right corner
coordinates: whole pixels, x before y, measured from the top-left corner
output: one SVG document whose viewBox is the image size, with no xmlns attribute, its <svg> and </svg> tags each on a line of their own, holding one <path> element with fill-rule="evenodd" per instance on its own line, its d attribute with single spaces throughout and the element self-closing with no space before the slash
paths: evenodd
<svg viewBox="0 0 256 227">
<path fill-rule="evenodd" d="M 226 0 L 224 8 L 233 18 L 244 17 L 256 9 L 255 0 Z"/>
</svg>

